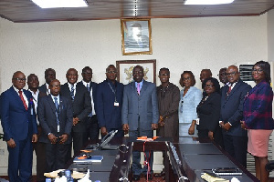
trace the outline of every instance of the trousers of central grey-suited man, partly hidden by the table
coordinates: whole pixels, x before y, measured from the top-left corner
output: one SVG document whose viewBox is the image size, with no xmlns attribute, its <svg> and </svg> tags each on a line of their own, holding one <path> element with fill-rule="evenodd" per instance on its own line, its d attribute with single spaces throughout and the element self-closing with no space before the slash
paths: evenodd
<svg viewBox="0 0 274 182">
<path fill-rule="evenodd" d="M 130 130 L 130 137 L 139 137 L 139 136 L 148 136 L 153 137 L 153 130 Z M 150 174 L 153 174 L 153 151 L 144 152 L 144 160 L 148 161 L 150 166 Z M 132 172 L 133 175 L 146 174 L 148 172 L 148 167 L 145 166 L 142 168 L 141 164 L 141 153 L 139 151 L 132 151 Z"/>
</svg>

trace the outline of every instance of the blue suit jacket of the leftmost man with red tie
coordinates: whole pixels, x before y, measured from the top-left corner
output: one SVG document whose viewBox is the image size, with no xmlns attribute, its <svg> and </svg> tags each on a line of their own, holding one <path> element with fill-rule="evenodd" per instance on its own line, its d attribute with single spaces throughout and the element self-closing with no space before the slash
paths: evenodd
<svg viewBox="0 0 274 182">
<path fill-rule="evenodd" d="M 29 91 L 23 92 L 28 101 L 26 110 L 20 96 L 13 86 L 1 95 L 1 124 L 4 139 L 24 140 L 28 135 L 37 134 L 37 116 L 33 109 L 32 95 Z"/>
</svg>

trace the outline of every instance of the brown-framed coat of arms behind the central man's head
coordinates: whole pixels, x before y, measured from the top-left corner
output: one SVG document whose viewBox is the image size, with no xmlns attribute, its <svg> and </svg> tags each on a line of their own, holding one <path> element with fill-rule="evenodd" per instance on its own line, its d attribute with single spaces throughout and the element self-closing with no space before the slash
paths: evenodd
<svg viewBox="0 0 274 182">
<path fill-rule="evenodd" d="M 132 71 L 134 66 L 142 66 L 143 79 L 156 84 L 156 59 L 116 61 L 117 80 L 124 85 L 131 83 L 133 81 Z"/>
</svg>

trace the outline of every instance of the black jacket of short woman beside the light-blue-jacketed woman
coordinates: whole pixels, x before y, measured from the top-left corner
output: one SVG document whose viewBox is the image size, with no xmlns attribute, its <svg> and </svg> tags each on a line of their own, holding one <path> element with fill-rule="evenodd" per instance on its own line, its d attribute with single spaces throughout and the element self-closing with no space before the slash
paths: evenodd
<svg viewBox="0 0 274 182">
<path fill-rule="evenodd" d="M 205 101 L 201 101 L 197 106 L 197 114 L 200 118 L 197 129 L 208 129 L 215 133 L 216 127 L 219 126 L 221 110 L 221 96 L 218 93 L 213 93 L 208 96 Z"/>
</svg>

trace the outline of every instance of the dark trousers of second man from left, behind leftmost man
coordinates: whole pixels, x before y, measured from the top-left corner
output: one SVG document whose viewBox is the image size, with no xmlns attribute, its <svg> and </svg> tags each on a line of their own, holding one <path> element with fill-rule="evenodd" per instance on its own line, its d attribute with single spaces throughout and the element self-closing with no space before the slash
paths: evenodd
<svg viewBox="0 0 274 182">
<path fill-rule="evenodd" d="M 38 126 L 38 137 L 41 134 L 41 127 Z M 46 172 L 46 146 L 45 143 L 37 142 L 33 144 L 34 150 L 37 155 L 37 181 L 45 181 L 46 177 L 44 173 Z"/>
</svg>

